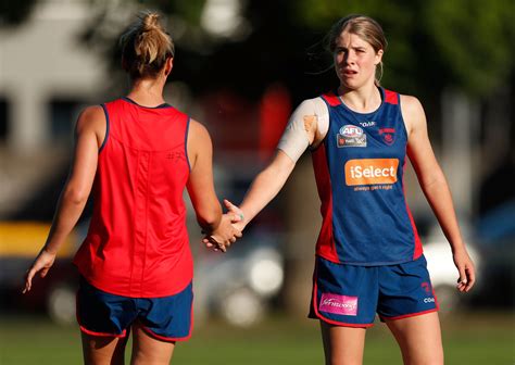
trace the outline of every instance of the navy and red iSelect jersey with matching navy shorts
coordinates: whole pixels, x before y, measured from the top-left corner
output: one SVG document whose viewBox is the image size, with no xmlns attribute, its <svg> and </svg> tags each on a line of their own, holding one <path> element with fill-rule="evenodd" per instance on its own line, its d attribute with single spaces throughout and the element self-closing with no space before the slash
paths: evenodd
<svg viewBox="0 0 515 365">
<path fill-rule="evenodd" d="M 367 114 L 334 92 L 312 100 L 317 110 L 311 114 L 322 116 L 318 128 L 326 129 L 312 151 L 323 224 L 310 317 L 336 325 L 368 327 L 376 312 L 386 319 L 438 307 L 404 197 L 400 96 L 379 91 L 380 106 Z M 291 156 L 287 135 L 288 128 L 279 149 Z"/>
</svg>

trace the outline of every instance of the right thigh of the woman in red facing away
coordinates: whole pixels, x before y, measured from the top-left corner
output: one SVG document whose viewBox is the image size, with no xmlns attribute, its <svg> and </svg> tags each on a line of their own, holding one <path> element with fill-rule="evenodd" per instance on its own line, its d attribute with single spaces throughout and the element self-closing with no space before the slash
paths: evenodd
<svg viewBox="0 0 515 365">
<path fill-rule="evenodd" d="M 133 358 L 131 365 L 169 364 L 175 342 L 159 340 L 137 320 L 133 325 Z"/>
</svg>

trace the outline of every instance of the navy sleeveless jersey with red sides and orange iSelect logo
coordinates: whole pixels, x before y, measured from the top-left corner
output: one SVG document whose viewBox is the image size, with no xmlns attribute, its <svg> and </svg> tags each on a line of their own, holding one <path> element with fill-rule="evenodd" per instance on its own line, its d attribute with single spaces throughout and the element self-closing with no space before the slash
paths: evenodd
<svg viewBox="0 0 515 365">
<path fill-rule="evenodd" d="M 404 196 L 407 134 L 400 96 L 379 89 L 373 113 L 323 95 L 329 129 L 313 151 L 323 224 L 316 254 L 335 263 L 390 265 L 422 255 Z"/>
</svg>

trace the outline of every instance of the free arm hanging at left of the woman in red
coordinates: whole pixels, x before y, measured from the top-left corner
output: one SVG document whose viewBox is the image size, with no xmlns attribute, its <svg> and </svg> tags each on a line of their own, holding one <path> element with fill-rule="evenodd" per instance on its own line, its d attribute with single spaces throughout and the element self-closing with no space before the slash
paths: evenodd
<svg viewBox="0 0 515 365">
<path fill-rule="evenodd" d="M 59 198 L 47 241 L 25 275 L 23 292 L 30 290 L 34 276 L 47 276 L 55 254 L 77 223 L 97 172 L 98 150 L 105 136 L 105 115 L 101 106 L 87 108 L 79 116 L 72 168 Z"/>
</svg>

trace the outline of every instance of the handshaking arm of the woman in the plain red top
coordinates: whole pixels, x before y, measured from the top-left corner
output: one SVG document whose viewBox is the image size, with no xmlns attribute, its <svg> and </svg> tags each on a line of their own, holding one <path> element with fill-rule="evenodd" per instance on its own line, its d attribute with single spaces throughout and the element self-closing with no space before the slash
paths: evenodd
<svg viewBox="0 0 515 365">
<path fill-rule="evenodd" d="M 203 125 L 191 119 L 188 133 L 188 159 L 191 172 L 188 179 L 188 193 L 193 204 L 197 221 L 209 236 L 229 246 L 241 232 L 230 225 L 228 217 L 222 216 L 222 207 L 213 185 L 213 147 Z M 221 249 L 224 249 L 222 246 Z"/>
</svg>

